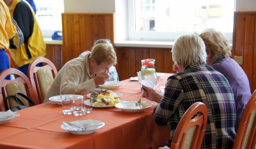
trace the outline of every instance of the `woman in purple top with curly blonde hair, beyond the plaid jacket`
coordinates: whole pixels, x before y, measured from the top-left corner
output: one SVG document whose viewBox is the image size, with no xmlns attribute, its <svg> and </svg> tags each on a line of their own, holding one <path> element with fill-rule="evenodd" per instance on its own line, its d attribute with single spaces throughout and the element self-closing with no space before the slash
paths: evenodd
<svg viewBox="0 0 256 149">
<path fill-rule="evenodd" d="M 236 102 L 236 132 L 246 104 L 252 96 L 249 79 L 240 65 L 230 58 L 228 38 L 214 28 L 204 30 L 199 36 L 206 45 L 207 65 L 222 73 L 229 81 Z"/>
</svg>

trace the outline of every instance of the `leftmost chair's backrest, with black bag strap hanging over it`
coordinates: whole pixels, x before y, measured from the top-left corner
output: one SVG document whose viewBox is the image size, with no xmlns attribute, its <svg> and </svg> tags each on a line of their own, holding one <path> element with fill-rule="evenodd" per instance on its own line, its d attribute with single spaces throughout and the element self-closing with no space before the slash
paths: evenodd
<svg viewBox="0 0 256 149">
<path fill-rule="evenodd" d="M 5 77 L 9 74 L 13 74 L 15 76 L 15 79 L 5 79 Z M 34 102 L 36 101 L 34 91 L 29 79 L 26 77 L 25 74 L 23 74 L 19 70 L 10 68 L 2 71 L 0 73 L 0 86 L 0 111 L 6 111 L 3 97 L 6 98 L 7 96 L 15 95 L 15 93 L 17 92 L 21 92 L 27 95 Z M 27 100 L 23 98 L 21 98 L 21 100 L 26 106 L 29 106 Z M 11 101 L 12 100 L 9 100 L 8 102 L 9 108 L 17 106 L 16 102 Z"/>
</svg>

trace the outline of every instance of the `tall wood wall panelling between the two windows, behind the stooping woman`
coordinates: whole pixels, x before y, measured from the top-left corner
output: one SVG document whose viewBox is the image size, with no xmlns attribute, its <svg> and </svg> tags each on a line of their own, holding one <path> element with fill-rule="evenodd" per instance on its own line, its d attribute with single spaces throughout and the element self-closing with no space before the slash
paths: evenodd
<svg viewBox="0 0 256 149">
<path fill-rule="evenodd" d="M 102 38 L 114 42 L 114 15 L 62 13 L 63 64 L 91 51 L 94 41 Z"/>
</svg>

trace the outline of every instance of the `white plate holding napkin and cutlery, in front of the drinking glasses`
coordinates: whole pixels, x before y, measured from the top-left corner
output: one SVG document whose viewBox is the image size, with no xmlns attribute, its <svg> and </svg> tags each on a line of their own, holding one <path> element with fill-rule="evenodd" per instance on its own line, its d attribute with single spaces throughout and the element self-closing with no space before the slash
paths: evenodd
<svg viewBox="0 0 256 149">
<path fill-rule="evenodd" d="M 70 134 L 73 135 L 88 135 L 96 132 L 97 129 L 102 128 L 105 126 L 105 123 L 101 121 L 96 120 L 82 120 L 82 121 L 72 121 L 68 122 L 72 125 L 69 125 L 67 123 L 64 123 L 60 126 L 60 128 L 69 131 Z M 88 125 L 89 124 L 89 125 Z M 85 127 L 86 130 L 79 129 L 73 125 L 76 125 L 78 127 Z"/>
</svg>

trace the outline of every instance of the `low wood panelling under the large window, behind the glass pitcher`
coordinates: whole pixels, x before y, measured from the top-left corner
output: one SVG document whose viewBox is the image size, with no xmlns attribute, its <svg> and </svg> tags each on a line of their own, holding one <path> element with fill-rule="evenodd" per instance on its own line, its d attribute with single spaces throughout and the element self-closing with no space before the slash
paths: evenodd
<svg viewBox="0 0 256 149">
<path fill-rule="evenodd" d="M 120 80 L 137 76 L 141 70 L 141 60 L 155 59 L 156 72 L 175 73 L 171 49 L 168 48 L 125 48 L 116 47 L 116 70 Z"/>
</svg>

